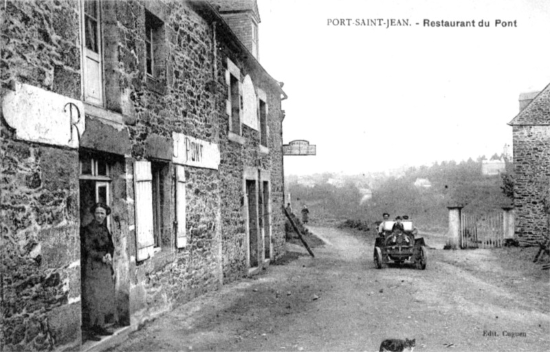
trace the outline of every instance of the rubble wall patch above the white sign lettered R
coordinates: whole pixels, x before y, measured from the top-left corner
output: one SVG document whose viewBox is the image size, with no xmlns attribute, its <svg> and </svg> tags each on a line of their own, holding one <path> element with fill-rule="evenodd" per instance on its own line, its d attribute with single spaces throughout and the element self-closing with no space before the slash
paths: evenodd
<svg viewBox="0 0 550 352">
<path fill-rule="evenodd" d="M 76 1 L 5 1 L 0 80 L 17 80 L 80 98 L 80 35 Z"/>
</svg>

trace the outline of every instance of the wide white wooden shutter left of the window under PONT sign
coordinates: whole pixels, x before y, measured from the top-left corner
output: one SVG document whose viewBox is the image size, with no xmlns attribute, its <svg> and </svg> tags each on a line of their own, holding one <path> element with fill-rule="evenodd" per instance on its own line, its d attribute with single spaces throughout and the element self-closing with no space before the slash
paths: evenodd
<svg viewBox="0 0 550 352">
<path fill-rule="evenodd" d="M 136 259 L 144 261 L 153 256 L 153 188 L 151 180 L 151 163 L 135 162 L 135 240 Z"/>
</svg>

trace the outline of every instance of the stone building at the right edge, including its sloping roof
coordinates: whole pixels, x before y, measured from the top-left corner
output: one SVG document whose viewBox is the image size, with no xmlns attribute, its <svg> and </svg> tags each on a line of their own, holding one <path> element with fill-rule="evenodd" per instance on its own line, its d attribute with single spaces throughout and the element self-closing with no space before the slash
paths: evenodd
<svg viewBox="0 0 550 352">
<path fill-rule="evenodd" d="M 520 96 L 520 113 L 509 124 L 514 141 L 515 236 L 535 245 L 549 235 L 550 85 Z"/>
</svg>

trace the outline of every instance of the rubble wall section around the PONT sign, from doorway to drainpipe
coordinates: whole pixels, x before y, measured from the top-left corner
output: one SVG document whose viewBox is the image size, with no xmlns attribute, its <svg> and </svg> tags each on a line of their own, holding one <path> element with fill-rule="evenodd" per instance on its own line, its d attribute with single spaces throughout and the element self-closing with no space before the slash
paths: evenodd
<svg viewBox="0 0 550 352">
<path fill-rule="evenodd" d="M 166 71 L 153 80 L 144 73 L 145 10 L 164 21 Z M 132 116 L 129 130 L 132 157 L 148 159 L 156 152 L 151 136 L 164 138 L 171 147 L 172 133 L 185 133 L 208 142 L 217 142 L 217 111 L 212 92 L 212 29 L 188 4 L 175 1 L 143 3 L 118 1 L 111 16 L 118 19 L 115 35 L 125 40 L 118 43 L 121 96 L 129 96 L 122 113 Z M 123 99 L 122 97 L 121 99 Z M 157 139 L 158 139 L 157 137 Z M 171 158 L 171 154 L 170 154 Z M 168 162 L 170 160 L 164 160 Z M 168 164 L 168 163 L 167 163 Z M 126 165 L 133 174 L 131 163 Z M 173 178 L 170 166 L 168 177 Z M 219 177 L 217 170 L 186 166 L 188 245 L 175 248 L 175 228 L 172 221 L 164 229 L 161 252 L 130 267 L 130 311 L 132 325 L 156 316 L 176 303 L 182 303 L 203 292 L 216 289 L 221 283 L 219 273 L 218 231 Z M 173 181 L 168 181 L 173 184 Z M 131 185 L 129 185 L 131 188 Z M 170 192 L 173 195 L 173 190 Z M 133 194 L 133 190 L 129 190 Z M 132 212 L 133 205 L 129 206 Z M 173 199 L 166 208 L 173 210 Z M 135 221 L 129 222 L 134 228 Z M 129 233 L 130 257 L 135 258 L 135 231 Z"/>
</svg>

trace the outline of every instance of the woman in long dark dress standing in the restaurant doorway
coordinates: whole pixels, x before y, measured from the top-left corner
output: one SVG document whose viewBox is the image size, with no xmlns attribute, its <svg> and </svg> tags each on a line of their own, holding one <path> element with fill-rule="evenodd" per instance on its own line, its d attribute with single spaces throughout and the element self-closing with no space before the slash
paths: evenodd
<svg viewBox="0 0 550 352">
<path fill-rule="evenodd" d="M 112 335 L 105 327 L 115 316 L 115 283 L 113 254 L 115 246 L 107 229 L 107 215 L 111 208 L 105 203 L 91 207 L 94 220 L 83 228 L 83 325 L 89 340 L 94 335 Z M 87 321 L 84 321 L 87 320 Z"/>
</svg>

